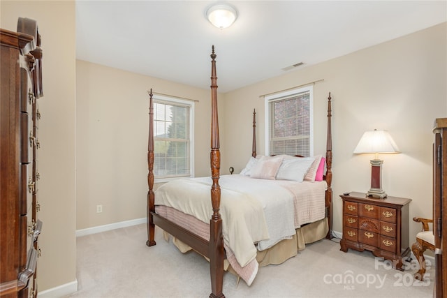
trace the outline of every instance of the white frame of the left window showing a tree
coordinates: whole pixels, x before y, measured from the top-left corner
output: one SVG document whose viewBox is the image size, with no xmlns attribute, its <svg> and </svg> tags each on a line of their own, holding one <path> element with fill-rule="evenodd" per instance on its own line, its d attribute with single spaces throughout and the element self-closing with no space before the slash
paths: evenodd
<svg viewBox="0 0 447 298">
<path fill-rule="evenodd" d="M 176 98 L 176 97 L 170 97 L 170 96 L 162 96 L 159 94 L 154 94 L 153 96 L 154 103 L 163 103 L 163 104 L 173 104 L 175 105 L 186 105 L 189 107 L 189 176 L 182 176 L 182 177 L 163 177 L 163 178 L 157 178 L 156 174 L 154 173 L 154 183 L 161 183 L 161 182 L 168 182 L 175 179 L 181 179 L 181 178 L 192 178 L 194 177 L 194 110 L 195 110 L 195 101 L 193 100 L 185 100 L 182 98 Z M 154 116 L 155 119 L 155 116 Z M 154 128 L 155 129 L 155 128 Z M 154 131 L 154 138 L 155 138 L 155 131 Z M 155 152 L 155 148 L 154 148 Z"/>
</svg>

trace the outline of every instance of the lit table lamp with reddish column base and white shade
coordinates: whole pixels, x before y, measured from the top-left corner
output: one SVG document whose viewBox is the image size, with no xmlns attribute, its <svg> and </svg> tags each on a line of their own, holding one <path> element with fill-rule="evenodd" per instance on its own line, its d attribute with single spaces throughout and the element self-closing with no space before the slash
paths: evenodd
<svg viewBox="0 0 447 298">
<path fill-rule="evenodd" d="M 366 193 L 372 198 L 386 198 L 382 189 L 382 164 L 379 153 L 399 153 L 396 143 L 388 131 L 367 131 L 354 149 L 354 154 L 375 154 L 371 161 L 371 189 Z"/>
</svg>

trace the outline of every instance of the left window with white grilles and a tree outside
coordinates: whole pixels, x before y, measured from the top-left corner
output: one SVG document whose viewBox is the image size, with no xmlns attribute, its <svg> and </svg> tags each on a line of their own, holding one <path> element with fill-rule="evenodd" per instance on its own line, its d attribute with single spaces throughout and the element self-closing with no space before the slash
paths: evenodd
<svg viewBox="0 0 447 298">
<path fill-rule="evenodd" d="M 193 112 L 188 100 L 154 96 L 154 176 L 193 177 Z"/>
</svg>

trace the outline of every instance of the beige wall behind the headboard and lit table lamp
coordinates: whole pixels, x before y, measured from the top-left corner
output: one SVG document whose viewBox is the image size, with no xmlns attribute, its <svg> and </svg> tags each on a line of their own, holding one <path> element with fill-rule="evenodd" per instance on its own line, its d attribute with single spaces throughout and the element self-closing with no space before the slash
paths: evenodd
<svg viewBox="0 0 447 298">
<path fill-rule="evenodd" d="M 346 191 L 369 189 L 371 155 L 354 155 L 362 133 L 390 132 L 402 154 L 383 154 L 383 189 L 411 198 L 410 218 L 432 217 L 432 127 L 447 117 L 447 24 L 418 31 L 281 77 L 225 94 L 223 168 L 239 172 L 251 154 L 251 113 L 257 111 L 258 153 L 264 152 L 264 101 L 259 96 L 323 79 L 314 85 L 315 154 L 325 151 L 328 92 L 332 93 L 334 230 L 342 232 Z M 327 45 L 330 47 L 330 45 Z M 223 54 L 223 53 L 221 53 Z M 235 108 L 237 107 L 237 108 Z M 409 225 L 410 245 L 420 223 Z"/>
</svg>

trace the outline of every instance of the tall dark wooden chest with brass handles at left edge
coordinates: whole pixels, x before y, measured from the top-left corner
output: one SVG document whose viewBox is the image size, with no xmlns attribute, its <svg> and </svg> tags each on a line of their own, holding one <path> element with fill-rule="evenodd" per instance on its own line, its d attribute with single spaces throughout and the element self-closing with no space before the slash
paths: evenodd
<svg viewBox="0 0 447 298">
<path fill-rule="evenodd" d="M 36 297 L 41 36 L 27 18 L 0 33 L 0 297 Z"/>
</svg>

